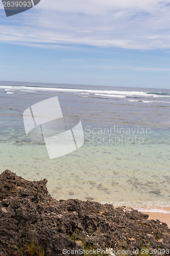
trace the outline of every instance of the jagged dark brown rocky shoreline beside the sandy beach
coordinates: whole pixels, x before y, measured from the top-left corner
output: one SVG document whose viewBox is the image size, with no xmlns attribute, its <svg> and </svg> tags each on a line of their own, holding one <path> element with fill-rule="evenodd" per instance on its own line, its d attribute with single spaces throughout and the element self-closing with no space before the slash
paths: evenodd
<svg viewBox="0 0 170 256">
<path fill-rule="evenodd" d="M 164 250 L 170 254 L 166 223 L 148 220 L 148 215 L 132 208 L 90 200 L 57 201 L 48 194 L 46 183 L 46 179 L 27 181 L 10 170 L 0 175 L 1 256 L 17 255 L 16 248 L 32 238 L 44 248 L 45 256 L 79 255 L 84 241 L 87 248 L 113 248 L 115 255 L 122 255 L 118 250 L 138 255 L 135 250 L 142 248 L 159 249 L 154 255 L 163 255 Z"/>
</svg>

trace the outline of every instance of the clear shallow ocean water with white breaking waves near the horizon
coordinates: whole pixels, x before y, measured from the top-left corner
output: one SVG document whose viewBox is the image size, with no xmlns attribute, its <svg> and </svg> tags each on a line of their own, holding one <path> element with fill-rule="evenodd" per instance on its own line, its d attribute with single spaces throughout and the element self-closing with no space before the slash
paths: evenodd
<svg viewBox="0 0 170 256">
<path fill-rule="evenodd" d="M 55 96 L 81 119 L 85 141 L 50 159 L 44 140 L 26 135 L 23 112 Z M 1 81 L 0 97 L 1 173 L 46 178 L 57 200 L 170 213 L 170 90 Z"/>
</svg>

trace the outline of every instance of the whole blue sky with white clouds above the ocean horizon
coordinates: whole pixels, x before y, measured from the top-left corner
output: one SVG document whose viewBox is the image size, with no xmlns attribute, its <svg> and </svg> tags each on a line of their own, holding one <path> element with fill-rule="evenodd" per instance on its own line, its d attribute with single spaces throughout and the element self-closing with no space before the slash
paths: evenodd
<svg viewBox="0 0 170 256">
<path fill-rule="evenodd" d="M 0 80 L 170 89 L 169 60 L 170 0 L 0 2 Z"/>
</svg>

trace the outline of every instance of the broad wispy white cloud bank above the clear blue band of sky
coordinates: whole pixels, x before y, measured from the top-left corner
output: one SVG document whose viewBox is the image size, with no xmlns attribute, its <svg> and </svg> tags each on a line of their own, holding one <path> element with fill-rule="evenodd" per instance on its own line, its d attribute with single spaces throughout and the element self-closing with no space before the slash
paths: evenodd
<svg viewBox="0 0 170 256">
<path fill-rule="evenodd" d="M 41 0 L 32 10 L 3 18 L 0 41 L 48 48 L 170 48 L 169 0 Z"/>
</svg>

